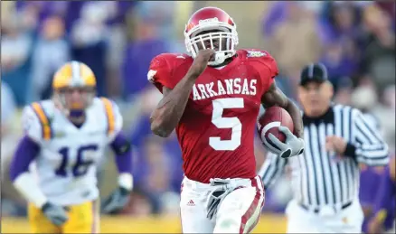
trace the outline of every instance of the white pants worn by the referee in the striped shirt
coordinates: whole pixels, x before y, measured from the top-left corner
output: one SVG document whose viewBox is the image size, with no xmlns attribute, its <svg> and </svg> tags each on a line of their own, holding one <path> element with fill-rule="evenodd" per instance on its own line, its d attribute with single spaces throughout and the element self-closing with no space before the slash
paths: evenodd
<svg viewBox="0 0 396 234">
<path fill-rule="evenodd" d="M 292 200 L 286 215 L 288 233 L 362 233 L 363 210 L 357 200 L 344 210 L 324 207 L 318 213 L 306 211 Z"/>
</svg>

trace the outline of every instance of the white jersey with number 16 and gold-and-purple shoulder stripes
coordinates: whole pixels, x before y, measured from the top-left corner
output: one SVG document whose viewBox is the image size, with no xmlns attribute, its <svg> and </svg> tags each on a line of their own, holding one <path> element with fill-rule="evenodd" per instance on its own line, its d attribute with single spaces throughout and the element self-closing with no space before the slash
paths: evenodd
<svg viewBox="0 0 396 234">
<path fill-rule="evenodd" d="M 41 147 L 32 173 L 55 204 L 79 204 L 99 196 L 97 165 L 123 121 L 108 98 L 94 98 L 86 117 L 80 128 L 74 126 L 52 100 L 24 108 L 24 132 Z"/>
</svg>

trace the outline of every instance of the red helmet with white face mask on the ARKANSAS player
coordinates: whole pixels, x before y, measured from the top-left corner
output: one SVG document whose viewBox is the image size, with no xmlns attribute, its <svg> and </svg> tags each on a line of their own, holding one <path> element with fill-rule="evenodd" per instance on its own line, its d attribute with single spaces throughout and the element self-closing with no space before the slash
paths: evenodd
<svg viewBox="0 0 396 234">
<path fill-rule="evenodd" d="M 187 51 L 195 58 L 203 49 L 216 51 L 208 65 L 221 65 L 235 53 L 236 25 L 230 15 L 216 7 L 205 7 L 192 15 L 184 31 Z"/>
</svg>

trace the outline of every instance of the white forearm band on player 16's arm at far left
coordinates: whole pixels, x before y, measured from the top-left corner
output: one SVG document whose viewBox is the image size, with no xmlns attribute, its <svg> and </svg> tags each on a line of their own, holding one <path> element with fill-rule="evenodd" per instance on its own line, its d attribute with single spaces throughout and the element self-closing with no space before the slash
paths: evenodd
<svg viewBox="0 0 396 234">
<path fill-rule="evenodd" d="M 21 173 L 14 180 L 14 187 L 24 196 L 27 201 L 32 202 L 36 207 L 42 208 L 47 202 L 47 198 L 34 181 L 31 173 Z"/>
</svg>

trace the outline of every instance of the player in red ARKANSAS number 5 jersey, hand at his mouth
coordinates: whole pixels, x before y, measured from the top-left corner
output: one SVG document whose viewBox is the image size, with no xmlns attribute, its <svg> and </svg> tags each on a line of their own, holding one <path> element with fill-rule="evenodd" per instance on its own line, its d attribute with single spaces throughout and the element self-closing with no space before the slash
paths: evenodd
<svg viewBox="0 0 396 234">
<path fill-rule="evenodd" d="M 190 55 L 160 54 L 147 73 L 164 95 L 151 129 L 163 137 L 175 129 L 183 152 L 183 231 L 250 232 L 264 204 L 253 146 L 260 104 L 285 108 L 293 118 L 296 136 L 282 129 L 286 144 L 273 141 L 272 150 L 283 157 L 304 150 L 300 111 L 276 87 L 278 67 L 267 51 L 235 50 L 229 14 L 198 10 L 184 35 Z"/>
</svg>

